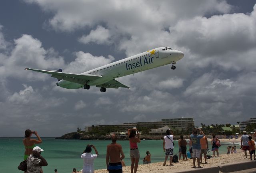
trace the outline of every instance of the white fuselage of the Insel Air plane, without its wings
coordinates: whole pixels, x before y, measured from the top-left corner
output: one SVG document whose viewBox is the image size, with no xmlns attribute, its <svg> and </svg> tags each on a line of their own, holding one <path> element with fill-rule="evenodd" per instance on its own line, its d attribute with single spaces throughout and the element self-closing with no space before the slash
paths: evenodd
<svg viewBox="0 0 256 173">
<path fill-rule="evenodd" d="M 84 72 L 82 74 L 102 76 L 102 78 L 88 82 L 88 85 L 90 86 L 98 86 L 105 84 L 106 82 L 115 78 L 120 78 L 122 76 L 127 76 L 130 74 L 177 62 L 178 60 L 183 58 L 183 56 L 184 54 L 181 51 L 161 47 L 147 52 L 143 52 L 141 54 L 130 56 L 116 62 L 112 62 L 105 66 L 101 66 Z M 82 84 L 77 84 L 66 80 L 60 80 L 58 82 L 58 86 L 68 89 L 77 89 L 84 87 L 84 85 Z"/>
</svg>

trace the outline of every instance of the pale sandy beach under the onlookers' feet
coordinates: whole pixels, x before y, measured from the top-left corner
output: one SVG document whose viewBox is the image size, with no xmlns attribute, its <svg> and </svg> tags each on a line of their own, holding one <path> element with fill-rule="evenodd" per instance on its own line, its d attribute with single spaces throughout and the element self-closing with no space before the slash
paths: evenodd
<svg viewBox="0 0 256 173">
<path fill-rule="evenodd" d="M 221 142 L 225 143 L 239 143 L 240 139 L 220 139 Z M 209 148 L 211 148 L 211 144 L 209 143 Z M 226 147 L 223 146 L 223 147 Z M 211 159 L 207 159 L 208 164 L 200 164 L 203 168 L 207 167 L 214 167 L 216 165 L 223 165 L 227 163 L 237 163 L 237 162 L 243 162 L 243 161 L 250 161 L 250 155 L 247 155 L 248 157 L 245 158 L 244 153 L 241 153 L 240 145 L 236 145 L 237 153 L 236 154 L 221 154 L 220 157 L 212 157 Z M 212 155 L 212 151 L 210 153 L 207 153 L 207 155 Z M 164 156 L 163 156 L 163 162 L 164 162 Z M 138 166 L 138 173 L 176 173 L 178 171 L 188 171 L 192 168 L 193 162 L 192 159 L 188 159 L 188 161 L 183 161 L 183 159 L 180 160 L 179 163 L 173 163 L 174 166 L 163 166 L 163 162 L 158 163 L 150 163 L 150 164 L 143 164 Z M 204 158 L 203 158 L 204 162 Z M 197 163 L 196 163 L 197 165 Z M 124 173 L 130 173 L 130 166 L 123 167 Z M 82 173 L 82 172 L 80 172 Z M 108 173 L 106 169 L 98 169 L 94 170 L 94 173 Z"/>
</svg>

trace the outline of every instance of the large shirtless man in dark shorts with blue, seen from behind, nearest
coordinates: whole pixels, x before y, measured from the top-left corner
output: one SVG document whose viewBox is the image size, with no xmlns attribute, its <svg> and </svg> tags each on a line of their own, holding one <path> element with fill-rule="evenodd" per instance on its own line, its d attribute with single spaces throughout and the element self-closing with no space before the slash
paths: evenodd
<svg viewBox="0 0 256 173">
<path fill-rule="evenodd" d="M 111 136 L 112 143 L 107 146 L 106 164 L 109 173 L 122 173 L 121 160 L 124 159 L 122 146 L 116 143 L 116 135 Z M 120 157 L 121 155 L 121 157 Z"/>
</svg>

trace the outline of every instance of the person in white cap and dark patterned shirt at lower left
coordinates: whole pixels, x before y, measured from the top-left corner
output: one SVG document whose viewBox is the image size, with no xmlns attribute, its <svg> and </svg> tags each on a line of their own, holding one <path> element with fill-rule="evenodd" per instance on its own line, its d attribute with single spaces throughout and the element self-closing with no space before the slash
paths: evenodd
<svg viewBox="0 0 256 173">
<path fill-rule="evenodd" d="M 41 152 L 44 151 L 40 147 L 36 146 L 33 148 L 33 154 L 27 158 L 27 171 L 26 173 L 41 173 L 42 166 L 47 166 L 48 163 L 42 157 Z"/>
</svg>

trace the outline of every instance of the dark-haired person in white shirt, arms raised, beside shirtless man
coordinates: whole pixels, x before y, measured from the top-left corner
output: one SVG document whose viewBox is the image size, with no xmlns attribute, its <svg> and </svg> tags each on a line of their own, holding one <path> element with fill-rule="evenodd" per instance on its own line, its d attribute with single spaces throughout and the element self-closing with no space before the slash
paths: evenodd
<svg viewBox="0 0 256 173">
<path fill-rule="evenodd" d="M 94 149 L 96 154 L 92 154 L 92 148 Z M 94 145 L 87 145 L 86 149 L 81 155 L 81 159 L 84 160 L 84 167 L 82 173 L 93 173 L 93 162 L 96 157 L 98 157 L 99 153 L 97 149 L 94 147 Z"/>
</svg>

